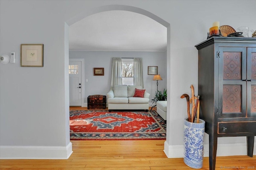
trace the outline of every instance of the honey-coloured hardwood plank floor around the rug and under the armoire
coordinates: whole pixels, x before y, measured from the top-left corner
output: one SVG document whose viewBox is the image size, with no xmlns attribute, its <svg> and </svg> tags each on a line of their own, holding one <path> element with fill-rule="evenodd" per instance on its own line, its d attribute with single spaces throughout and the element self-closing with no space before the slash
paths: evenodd
<svg viewBox="0 0 256 170">
<path fill-rule="evenodd" d="M 71 141 L 67 160 L 0 160 L 0 170 L 192 170 L 183 158 L 167 158 L 164 141 Z M 208 159 L 202 170 L 209 170 Z M 256 157 L 217 157 L 216 170 L 223 169 L 256 170 Z"/>
</svg>

